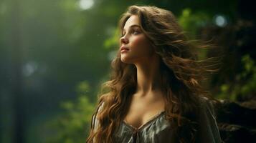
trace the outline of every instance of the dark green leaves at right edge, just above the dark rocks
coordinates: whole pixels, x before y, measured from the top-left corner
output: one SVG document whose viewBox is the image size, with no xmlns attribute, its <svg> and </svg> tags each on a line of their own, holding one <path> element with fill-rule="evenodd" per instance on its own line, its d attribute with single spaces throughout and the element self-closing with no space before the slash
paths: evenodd
<svg viewBox="0 0 256 143">
<path fill-rule="evenodd" d="M 220 99 L 233 101 L 246 99 L 256 94 L 256 65 L 249 55 L 242 56 L 243 70 L 234 79 L 233 84 L 222 84 Z"/>
</svg>

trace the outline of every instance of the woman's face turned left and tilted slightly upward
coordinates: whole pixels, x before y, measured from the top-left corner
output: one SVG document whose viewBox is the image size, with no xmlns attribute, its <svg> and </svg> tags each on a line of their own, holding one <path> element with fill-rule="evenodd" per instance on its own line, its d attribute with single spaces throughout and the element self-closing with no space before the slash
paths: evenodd
<svg viewBox="0 0 256 143">
<path fill-rule="evenodd" d="M 153 46 L 141 30 L 138 16 L 132 15 L 123 27 L 120 38 L 120 59 L 127 64 L 150 61 L 153 55 Z"/>
</svg>

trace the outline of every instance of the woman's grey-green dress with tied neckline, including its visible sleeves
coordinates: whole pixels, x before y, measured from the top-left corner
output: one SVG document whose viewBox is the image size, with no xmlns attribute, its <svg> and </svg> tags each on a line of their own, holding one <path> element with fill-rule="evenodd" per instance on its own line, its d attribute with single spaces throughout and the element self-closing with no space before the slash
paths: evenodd
<svg viewBox="0 0 256 143">
<path fill-rule="evenodd" d="M 101 106 L 103 107 L 103 106 Z M 99 108 L 99 110 L 101 109 Z M 115 132 L 114 140 L 118 143 L 172 143 L 171 126 L 165 119 L 166 112 L 159 112 L 148 120 L 141 127 L 121 122 Z M 98 119 L 93 117 L 93 127 L 99 127 Z M 219 136 L 219 129 L 214 116 L 212 104 L 207 99 L 202 100 L 199 110 L 199 130 L 197 142 L 200 143 L 219 143 L 222 142 Z"/>
</svg>

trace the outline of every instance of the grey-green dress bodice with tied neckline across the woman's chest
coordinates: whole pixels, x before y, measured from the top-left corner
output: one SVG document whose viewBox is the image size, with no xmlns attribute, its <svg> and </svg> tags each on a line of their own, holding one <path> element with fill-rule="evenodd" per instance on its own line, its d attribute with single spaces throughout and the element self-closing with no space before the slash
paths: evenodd
<svg viewBox="0 0 256 143">
<path fill-rule="evenodd" d="M 121 122 L 115 133 L 116 142 L 171 142 L 171 126 L 164 118 L 165 112 L 136 129 L 125 122 Z"/>
</svg>

